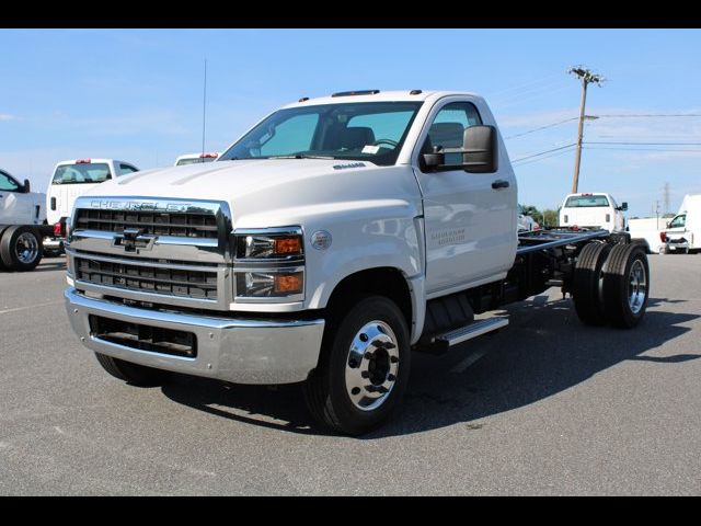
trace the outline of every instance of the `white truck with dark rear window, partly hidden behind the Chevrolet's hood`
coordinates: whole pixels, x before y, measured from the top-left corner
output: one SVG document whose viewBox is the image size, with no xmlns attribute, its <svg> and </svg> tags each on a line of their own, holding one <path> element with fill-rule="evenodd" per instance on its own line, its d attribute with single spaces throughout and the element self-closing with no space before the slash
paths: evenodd
<svg viewBox="0 0 701 526">
<path fill-rule="evenodd" d="M 77 197 L 100 183 L 138 171 L 133 163 L 115 159 L 70 159 L 56 164 L 46 193 L 46 219 L 54 229 L 44 240 L 45 248 L 61 250 L 66 220 Z"/>
</svg>

